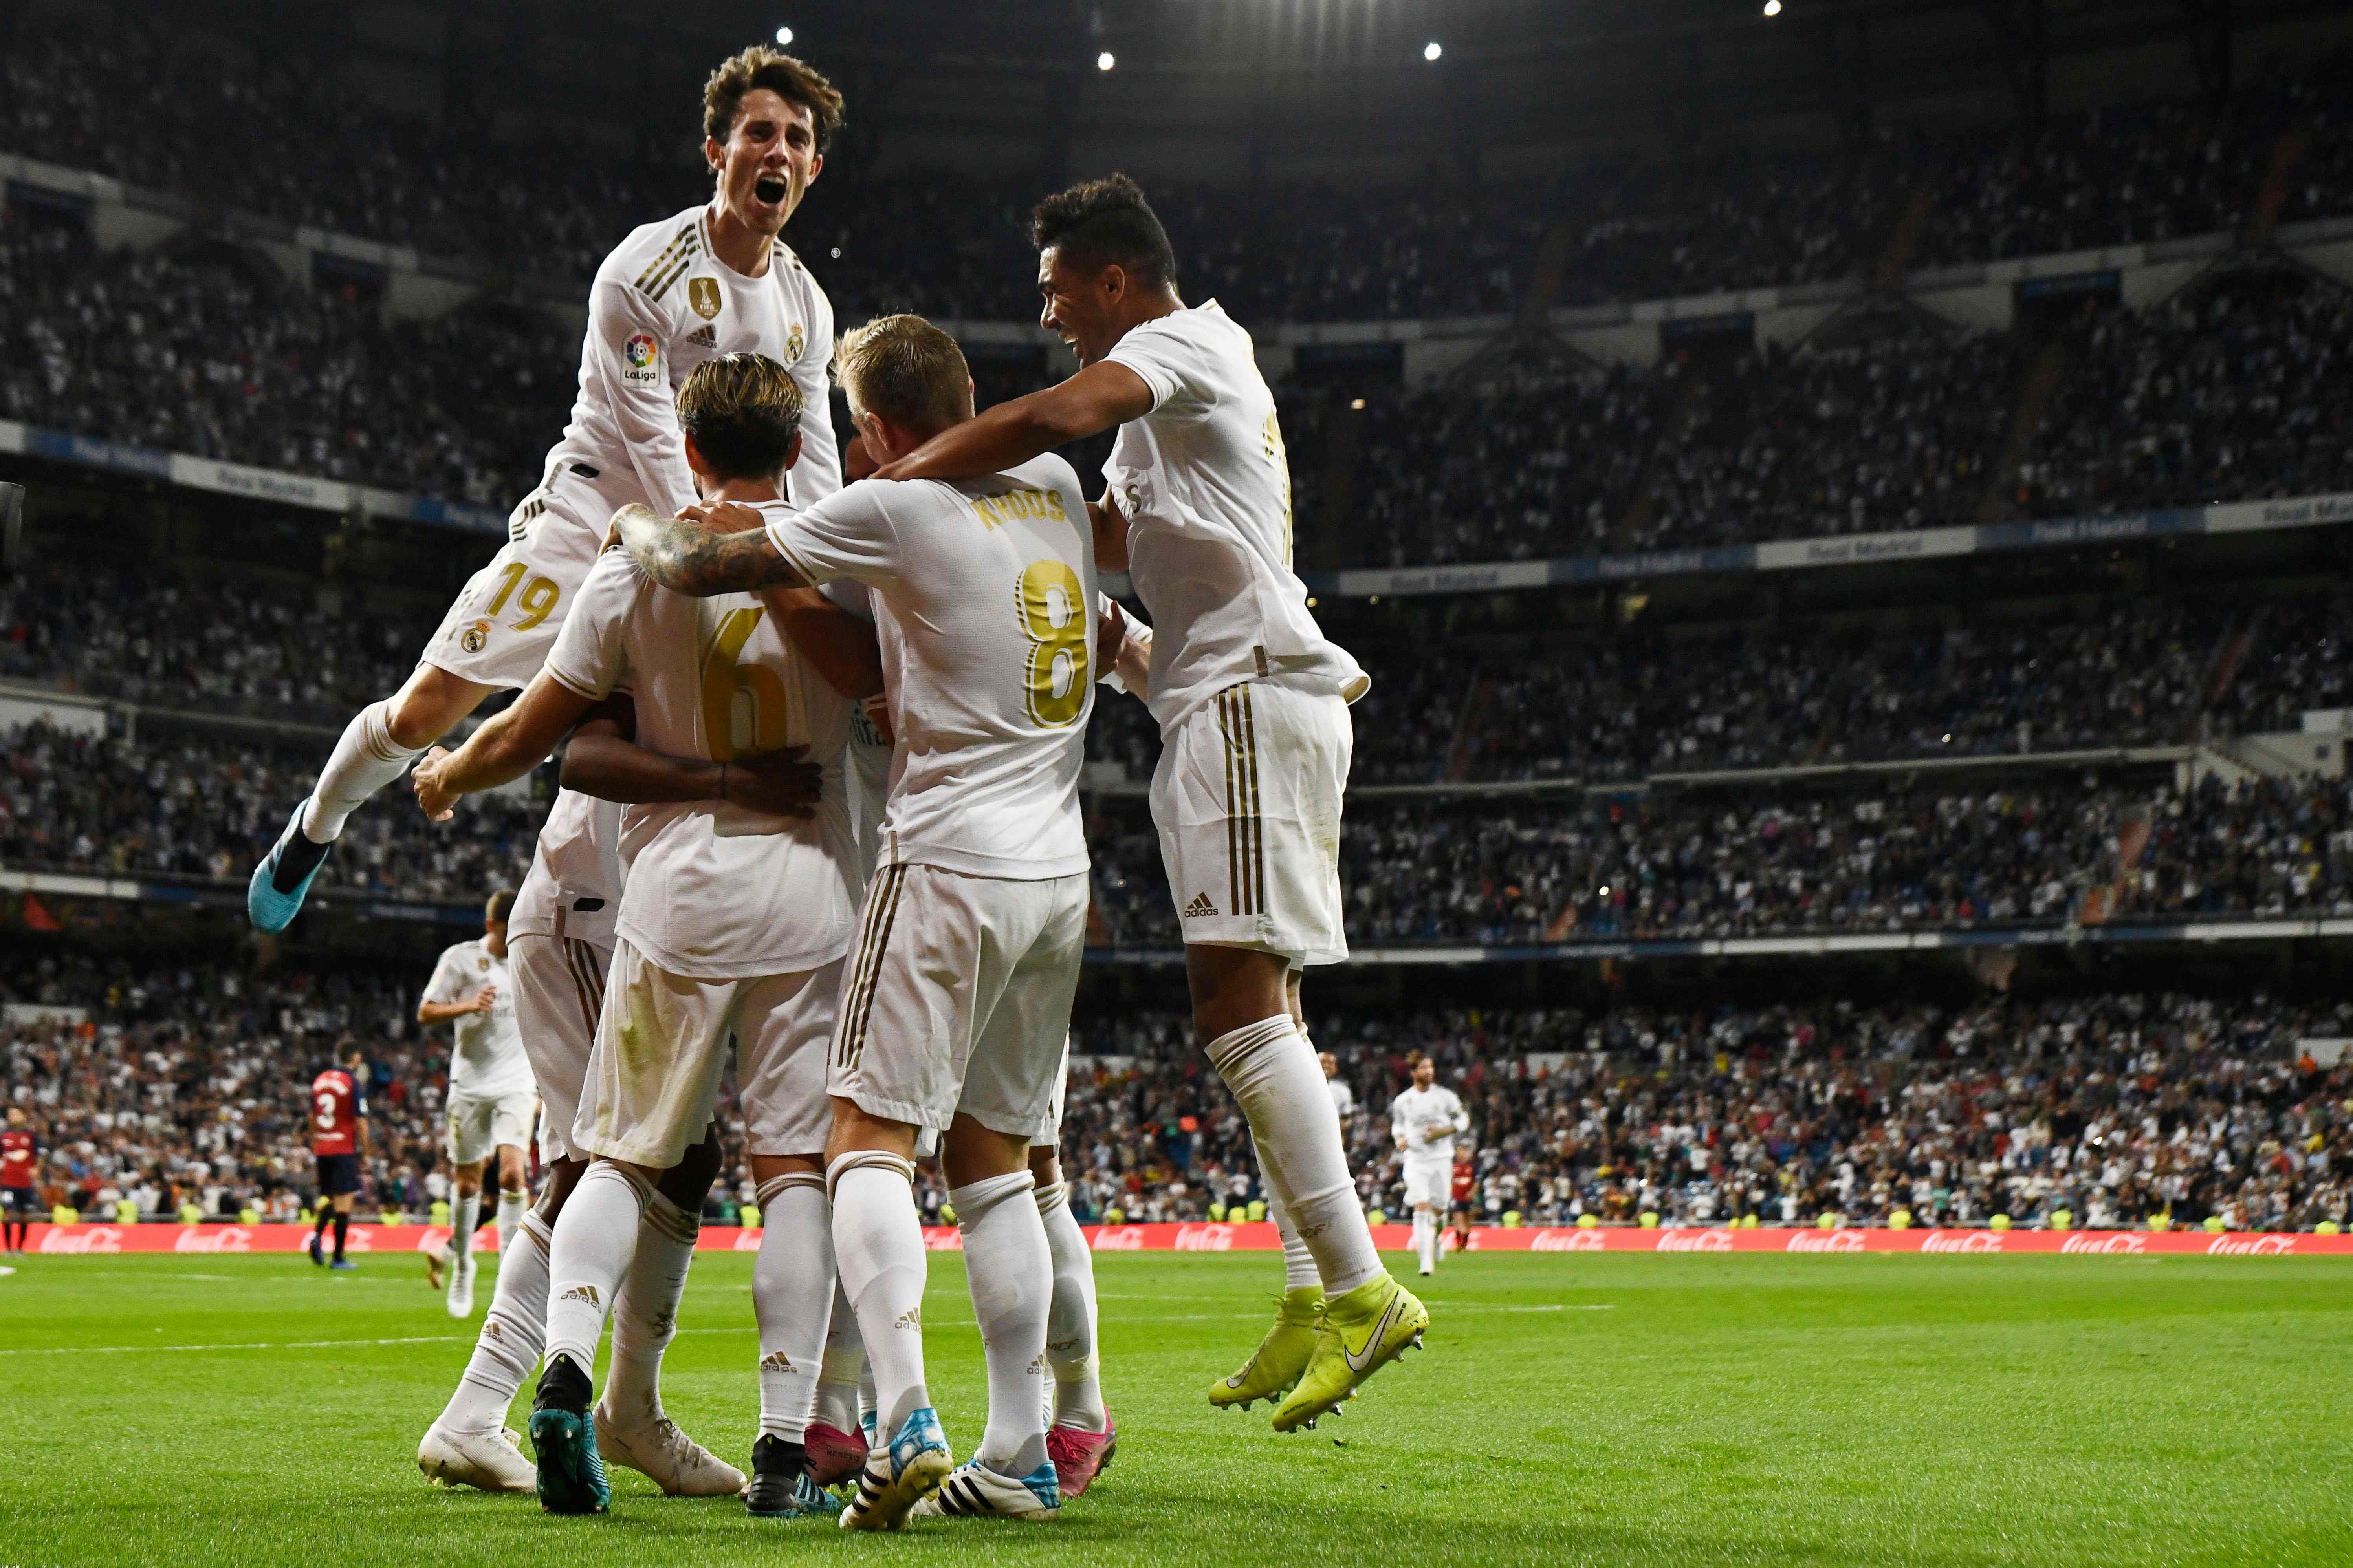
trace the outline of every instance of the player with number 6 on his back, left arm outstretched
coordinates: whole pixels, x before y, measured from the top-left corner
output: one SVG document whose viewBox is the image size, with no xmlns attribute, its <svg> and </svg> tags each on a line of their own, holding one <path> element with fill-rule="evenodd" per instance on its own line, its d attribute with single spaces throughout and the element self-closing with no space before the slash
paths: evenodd
<svg viewBox="0 0 2353 1568">
<path fill-rule="evenodd" d="M 696 369 L 680 390 L 680 418 L 704 491 L 774 503 L 798 414 L 798 388 L 772 360 L 729 355 Z M 548 1359 L 532 1413 L 539 1500 L 565 1514 L 609 1505 L 605 1406 L 588 1422 L 595 1342 L 631 1274 L 640 1222 L 664 1206 L 664 1173 L 708 1140 L 732 1037 L 746 1150 L 767 1211 L 753 1272 L 762 1436 L 748 1505 L 758 1514 L 802 1512 L 819 1497 L 800 1486 L 800 1432 L 833 1302 L 824 1041 L 859 893 L 845 792 L 854 708 L 795 651 L 776 607 L 751 595 L 666 592 L 614 550 L 588 574 L 572 623 L 522 701 L 459 752 L 419 766 L 419 804 L 445 813 L 454 795 L 520 773 L 616 689 L 633 693 L 638 741 L 649 750 L 706 759 L 725 776 L 739 752 L 800 745 L 824 788 L 805 823 L 732 806 L 725 778 L 718 799 L 624 813 L 628 882 L 569 1133 L 591 1166 L 548 1251 Z"/>
</svg>

